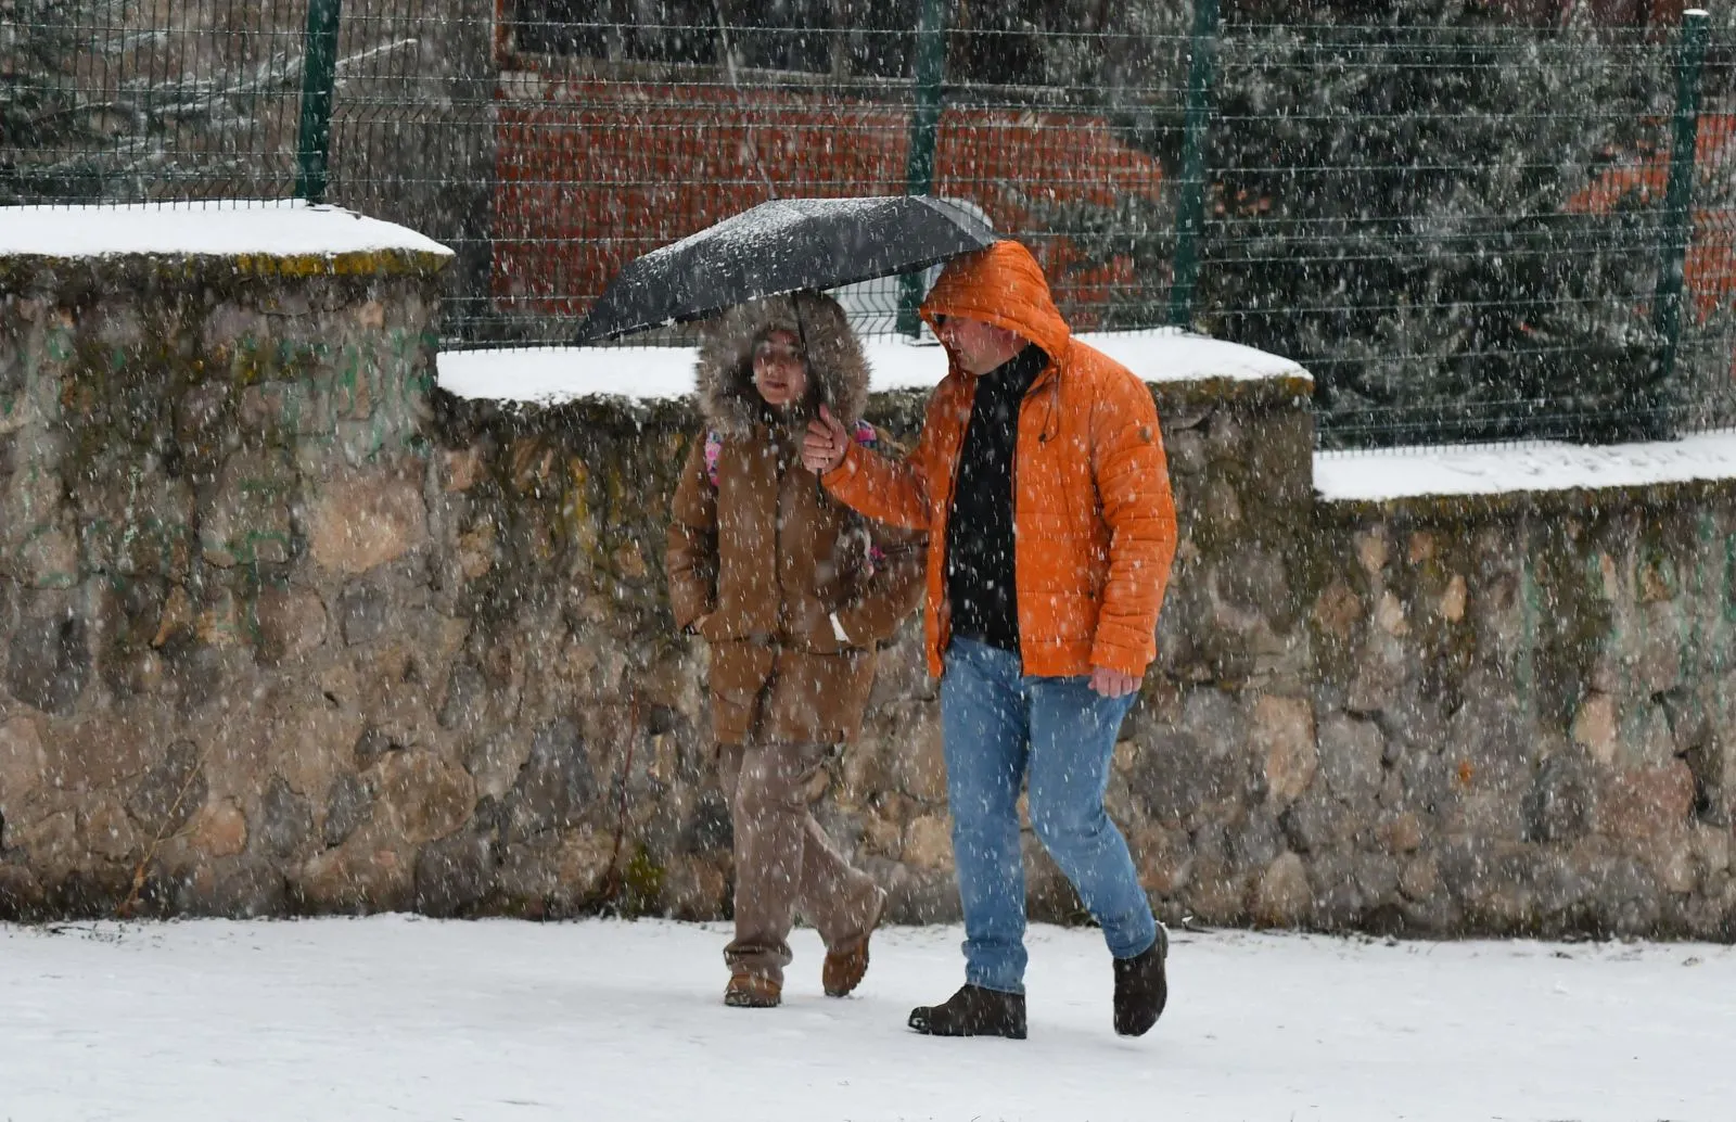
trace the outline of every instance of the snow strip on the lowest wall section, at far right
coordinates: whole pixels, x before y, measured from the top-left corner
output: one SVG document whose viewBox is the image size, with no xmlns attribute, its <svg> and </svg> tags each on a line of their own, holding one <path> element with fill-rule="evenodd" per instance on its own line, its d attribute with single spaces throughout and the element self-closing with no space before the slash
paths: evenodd
<svg viewBox="0 0 1736 1122">
<path fill-rule="evenodd" d="M 1736 479 L 1736 432 L 1674 441 L 1503 448 L 1397 448 L 1314 455 L 1314 490 L 1328 502 L 1415 495 L 1503 495 L 1575 488 Z"/>
</svg>

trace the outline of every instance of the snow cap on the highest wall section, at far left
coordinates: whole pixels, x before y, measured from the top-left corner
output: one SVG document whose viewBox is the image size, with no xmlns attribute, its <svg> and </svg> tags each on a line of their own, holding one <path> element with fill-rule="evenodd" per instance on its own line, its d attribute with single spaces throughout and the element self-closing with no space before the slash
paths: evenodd
<svg viewBox="0 0 1736 1122">
<path fill-rule="evenodd" d="M 342 207 L 224 200 L 125 207 L 0 207 L 0 255 L 127 254 L 271 257 L 408 250 L 450 257 L 439 241 Z"/>
</svg>

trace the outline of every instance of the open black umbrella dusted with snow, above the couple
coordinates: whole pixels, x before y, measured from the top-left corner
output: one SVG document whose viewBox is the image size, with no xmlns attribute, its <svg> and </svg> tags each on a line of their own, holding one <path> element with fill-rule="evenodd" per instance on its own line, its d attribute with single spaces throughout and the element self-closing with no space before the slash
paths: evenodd
<svg viewBox="0 0 1736 1122">
<path fill-rule="evenodd" d="M 578 340 L 698 320 L 762 295 L 913 273 L 993 243 L 993 226 L 939 198 L 779 198 L 628 261 L 590 306 Z"/>
</svg>

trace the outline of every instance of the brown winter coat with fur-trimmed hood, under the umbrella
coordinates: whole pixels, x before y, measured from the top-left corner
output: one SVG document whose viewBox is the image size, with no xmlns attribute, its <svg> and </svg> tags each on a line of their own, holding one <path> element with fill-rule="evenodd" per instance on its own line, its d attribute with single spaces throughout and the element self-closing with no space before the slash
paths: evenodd
<svg viewBox="0 0 1736 1122">
<path fill-rule="evenodd" d="M 773 415 L 752 351 L 773 328 L 802 337 L 807 406 Z M 799 294 L 727 313 L 698 365 L 701 434 L 668 530 L 675 625 L 712 644 L 712 723 L 722 743 L 852 740 L 875 650 L 922 596 L 922 535 L 868 523 L 800 462 L 819 403 L 858 432 L 868 396 L 861 344 L 830 299 Z M 849 636 L 840 644 L 830 613 Z"/>
</svg>

